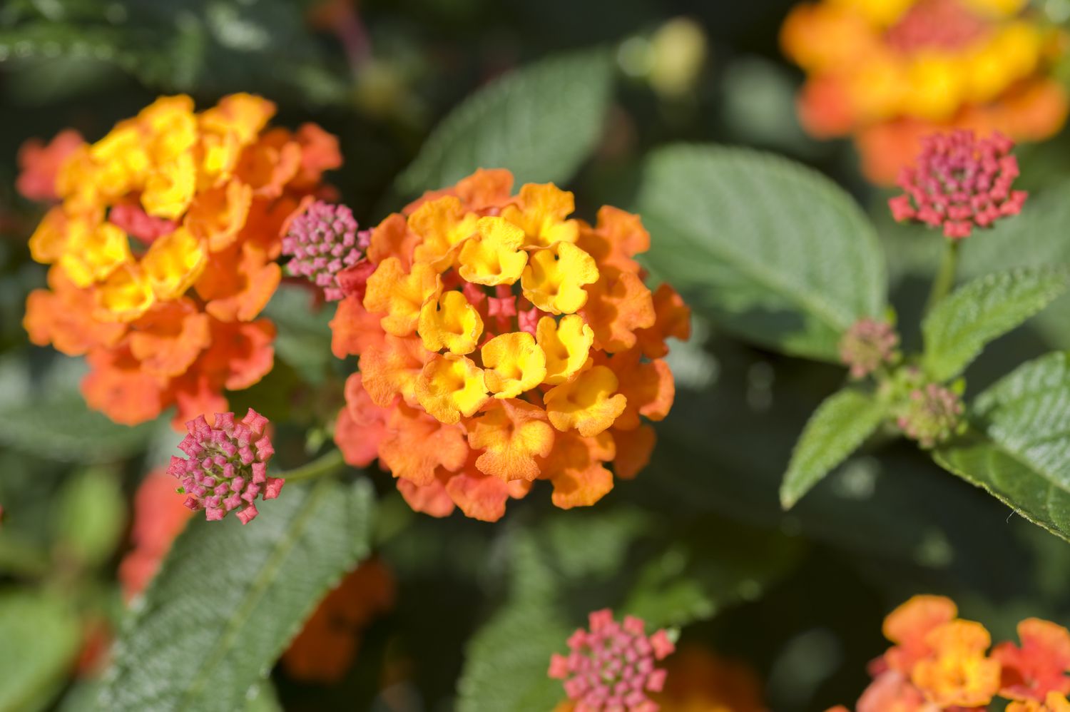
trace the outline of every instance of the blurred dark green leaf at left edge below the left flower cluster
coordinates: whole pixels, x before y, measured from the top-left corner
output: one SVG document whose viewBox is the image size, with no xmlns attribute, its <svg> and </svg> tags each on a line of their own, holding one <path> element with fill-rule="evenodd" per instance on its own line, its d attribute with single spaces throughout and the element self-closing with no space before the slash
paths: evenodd
<svg viewBox="0 0 1070 712">
<path fill-rule="evenodd" d="M 114 461 L 143 448 L 153 431 L 151 423 L 112 423 L 89 410 L 77 392 L 0 405 L 0 443 L 46 459 Z"/>
</svg>

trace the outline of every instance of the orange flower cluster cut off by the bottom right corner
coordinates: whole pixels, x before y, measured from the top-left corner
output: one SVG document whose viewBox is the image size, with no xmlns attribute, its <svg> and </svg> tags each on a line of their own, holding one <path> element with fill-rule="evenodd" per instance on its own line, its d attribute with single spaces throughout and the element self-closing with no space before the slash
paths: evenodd
<svg viewBox="0 0 1070 712">
<path fill-rule="evenodd" d="M 1020 645 L 991 648 L 984 626 L 959 618 L 951 600 L 919 595 L 888 615 L 884 635 L 895 645 L 870 663 L 873 682 L 857 712 L 987 710 L 998 697 L 1011 700 L 1007 712 L 1070 710 L 1070 632 L 1061 625 L 1028 618 L 1018 624 Z"/>
</svg>

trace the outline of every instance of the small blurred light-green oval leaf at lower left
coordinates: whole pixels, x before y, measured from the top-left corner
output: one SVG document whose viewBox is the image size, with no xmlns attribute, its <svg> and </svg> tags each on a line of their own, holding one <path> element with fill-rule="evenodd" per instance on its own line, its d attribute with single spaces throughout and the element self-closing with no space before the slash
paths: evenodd
<svg viewBox="0 0 1070 712">
<path fill-rule="evenodd" d="M 98 565 L 111 556 L 126 522 L 122 488 L 107 470 L 72 475 L 56 513 L 57 546 L 86 566 Z"/>
</svg>

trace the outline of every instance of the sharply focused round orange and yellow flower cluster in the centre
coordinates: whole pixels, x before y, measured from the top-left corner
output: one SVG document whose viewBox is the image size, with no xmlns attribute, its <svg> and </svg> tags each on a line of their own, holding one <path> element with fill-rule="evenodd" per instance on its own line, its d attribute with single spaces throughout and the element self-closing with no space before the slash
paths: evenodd
<svg viewBox="0 0 1070 712">
<path fill-rule="evenodd" d="M 635 256 L 639 217 L 570 217 L 572 194 L 479 170 L 372 231 L 367 263 L 339 275 L 339 358 L 361 357 L 335 439 L 349 463 L 393 472 L 413 509 L 500 518 L 549 480 L 588 505 L 645 466 L 674 383 L 666 338 L 689 312 L 653 293 Z M 608 467 L 612 467 L 612 472 Z"/>
</svg>

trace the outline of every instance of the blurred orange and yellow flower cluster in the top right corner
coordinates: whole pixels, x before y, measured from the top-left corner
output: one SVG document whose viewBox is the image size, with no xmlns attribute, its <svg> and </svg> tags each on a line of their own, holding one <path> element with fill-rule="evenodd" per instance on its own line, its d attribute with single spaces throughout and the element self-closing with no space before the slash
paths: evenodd
<svg viewBox="0 0 1070 712">
<path fill-rule="evenodd" d="M 1066 37 L 1025 0 L 820 0 L 781 31 L 807 73 L 799 115 L 820 138 L 853 135 L 866 175 L 891 183 L 922 136 L 950 127 L 1040 140 L 1066 121 L 1052 66 Z"/>
</svg>

